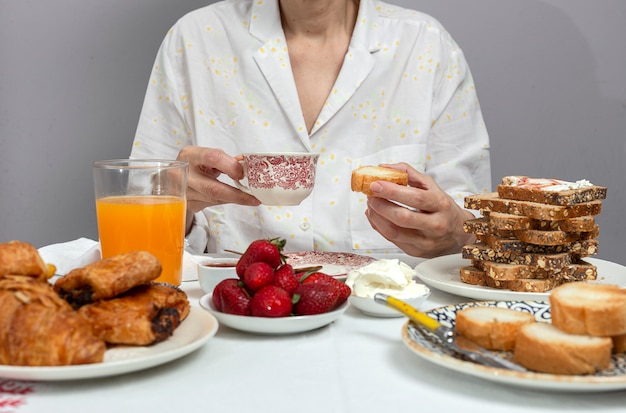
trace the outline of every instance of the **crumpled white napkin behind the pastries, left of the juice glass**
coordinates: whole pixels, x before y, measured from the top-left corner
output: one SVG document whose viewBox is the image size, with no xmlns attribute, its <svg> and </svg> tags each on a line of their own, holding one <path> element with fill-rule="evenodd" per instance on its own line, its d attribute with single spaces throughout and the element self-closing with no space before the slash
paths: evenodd
<svg viewBox="0 0 626 413">
<path fill-rule="evenodd" d="M 46 245 L 39 248 L 39 255 L 48 264 L 57 267 L 58 275 L 65 275 L 74 268 L 84 267 L 100 259 L 100 243 L 88 238 Z"/>
</svg>

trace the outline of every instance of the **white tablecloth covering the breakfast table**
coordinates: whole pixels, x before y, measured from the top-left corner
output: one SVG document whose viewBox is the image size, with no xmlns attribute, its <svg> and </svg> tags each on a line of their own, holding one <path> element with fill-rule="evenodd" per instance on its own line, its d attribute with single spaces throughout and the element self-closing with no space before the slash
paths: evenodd
<svg viewBox="0 0 626 413">
<path fill-rule="evenodd" d="M 190 301 L 204 294 L 183 282 Z M 422 309 L 468 301 L 433 291 Z M 220 326 L 197 351 L 109 378 L 26 383 L 0 379 L 0 413 L 28 412 L 617 412 L 626 391 L 536 391 L 456 373 L 401 341 L 405 318 L 349 308 L 308 333 L 262 336 Z"/>
</svg>

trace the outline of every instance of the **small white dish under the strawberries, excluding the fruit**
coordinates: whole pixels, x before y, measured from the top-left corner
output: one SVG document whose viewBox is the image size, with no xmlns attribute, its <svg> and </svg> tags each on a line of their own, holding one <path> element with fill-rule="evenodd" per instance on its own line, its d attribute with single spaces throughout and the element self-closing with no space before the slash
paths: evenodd
<svg viewBox="0 0 626 413">
<path fill-rule="evenodd" d="M 225 326 L 235 330 L 257 334 L 295 334 L 315 330 L 335 321 L 347 309 L 350 303 L 346 301 L 335 311 L 324 314 L 291 317 L 252 317 L 226 314 L 218 311 L 213 305 L 211 294 L 200 298 L 200 305 L 213 314 Z"/>
</svg>

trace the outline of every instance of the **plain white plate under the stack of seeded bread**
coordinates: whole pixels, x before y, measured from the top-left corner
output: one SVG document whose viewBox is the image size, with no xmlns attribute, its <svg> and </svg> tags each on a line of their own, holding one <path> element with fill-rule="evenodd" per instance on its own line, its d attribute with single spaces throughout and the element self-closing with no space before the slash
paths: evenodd
<svg viewBox="0 0 626 413">
<path fill-rule="evenodd" d="M 585 261 L 598 269 L 598 279 L 592 282 L 626 286 L 626 267 L 623 265 L 597 258 L 585 258 Z M 453 254 L 424 261 L 415 267 L 415 271 L 420 280 L 433 288 L 475 300 L 545 301 L 550 295 L 550 292 L 524 293 L 466 284 L 459 275 L 460 268 L 466 265 L 470 265 L 470 260 L 462 258 L 461 254 Z"/>
</svg>

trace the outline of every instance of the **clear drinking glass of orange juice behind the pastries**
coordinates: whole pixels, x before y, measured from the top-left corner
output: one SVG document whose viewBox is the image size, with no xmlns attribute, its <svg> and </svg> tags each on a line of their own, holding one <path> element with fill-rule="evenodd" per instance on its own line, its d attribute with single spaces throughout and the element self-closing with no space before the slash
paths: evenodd
<svg viewBox="0 0 626 413">
<path fill-rule="evenodd" d="M 163 267 L 158 282 L 180 285 L 188 164 L 114 159 L 93 164 L 102 258 L 148 251 Z"/>
</svg>

